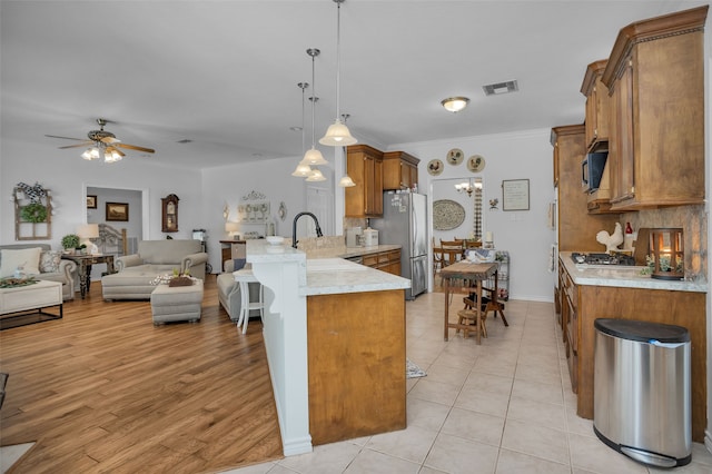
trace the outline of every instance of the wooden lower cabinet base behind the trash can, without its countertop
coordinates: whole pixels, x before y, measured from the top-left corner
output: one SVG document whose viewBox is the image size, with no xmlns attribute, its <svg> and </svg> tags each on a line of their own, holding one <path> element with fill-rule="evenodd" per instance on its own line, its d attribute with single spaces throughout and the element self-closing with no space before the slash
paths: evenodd
<svg viewBox="0 0 712 474">
<path fill-rule="evenodd" d="M 565 271 L 565 270 L 564 270 Z M 564 278 L 566 278 L 564 276 Z M 594 347 L 596 318 L 621 318 L 673 324 L 688 328 L 692 342 L 692 440 L 704 442 L 706 427 L 706 295 L 694 292 L 572 285 L 566 319 L 567 361 L 578 416 L 593 419 Z M 564 296 L 566 300 L 567 296 Z M 568 308 L 567 308 L 568 305 Z"/>
</svg>

